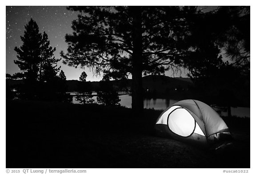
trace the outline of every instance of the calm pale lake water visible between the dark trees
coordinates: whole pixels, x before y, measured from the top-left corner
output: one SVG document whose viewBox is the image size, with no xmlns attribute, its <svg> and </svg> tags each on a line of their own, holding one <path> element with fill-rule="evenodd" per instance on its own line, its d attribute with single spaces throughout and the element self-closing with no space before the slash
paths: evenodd
<svg viewBox="0 0 256 174">
<path fill-rule="evenodd" d="M 71 95 L 76 95 L 76 93 L 70 93 Z M 97 93 L 92 93 L 92 95 L 96 95 Z M 120 104 L 121 106 L 125 106 L 127 108 L 132 107 L 132 96 L 129 94 L 122 94 L 119 96 L 121 99 Z M 97 96 L 93 96 L 92 99 L 97 102 Z M 176 103 L 177 100 L 171 100 L 171 99 L 145 99 L 144 100 L 144 108 L 153 108 L 156 110 L 164 110 L 170 105 Z M 76 101 L 75 96 L 73 96 L 73 104 L 79 104 L 78 101 Z M 214 108 L 216 109 L 216 108 Z M 217 109 L 216 109 L 217 110 Z M 238 117 L 250 117 L 250 108 L 244 108 L 244 107 L 237 107 L 237 108 L 231 108 L 231 114 L 233 116 Z M 227 112 L 221 112 L 221 116 L 228 116 Z"/>
</svg>

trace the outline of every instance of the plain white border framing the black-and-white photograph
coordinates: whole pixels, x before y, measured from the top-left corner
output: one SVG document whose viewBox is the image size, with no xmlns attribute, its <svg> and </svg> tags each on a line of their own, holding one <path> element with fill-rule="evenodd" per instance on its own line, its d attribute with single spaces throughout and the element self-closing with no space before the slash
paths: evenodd
<svg viewBox="0 0 256 174">
<path fill-rule="evenodd" d="M 26 6 L 26 5 L 250 5 L 251 6 L 251 42 L 255 41 L 255 1 L 252 0 L 232 0 L 232 1 L 224 1 L 224 0 L 214 0 L 214 1 L 207 1 L 207 0 L 157 0 L 157 1 L 150 1 L 150 0 L 128 0 L 128 1 L 120 1 L 120 0 L 93 0 L 93 1 L 88 1 L 88 0 L 79 0 L 74 3 L 74 1 L 70 0 L 62 0 L 62 1 L 53 1 L 53 0 L 43 0 L 42 2 L 35 1 L 35 0 L 11 0 L 11 1 L 1 1 L 1 6 L 0 6 L 0 12 L 1 12 L 1 23 L 5 23 L 5 6 L 8 5 L 21 5 L 21 6 Z M 1 39 L 1 53 L 2 55 L 5 54 L 5 28 L 1 27 L 1 34 L 0 39 Z M 252 48 L 254 48 L 254 44 L 251 45 Z M 4 53 L 4 54 L 3 54 Z M 254 49 L 252 49 L 251 52 L 252 55 L 252 61 L 251 61 L 251 89 L 256 89 L 255 86 L 255 64 L 254 64 Z M 1 159 L 0 159 L 0 171 L 1 173 L 6 173 L 5 169 L 5 58 L 4 63 L 1 64 L 1 81 L 4 82 L 3 85 L 1 85 L 1 120 L 0 120 L 0 135 L 1 135 Z M 255 104 L 254 101 L 252 101 L 255 98 L 255 91 L 251 90 L 251 105 Z M 255 173 L 255 140 L 253 138 L 254 132 L 255 132 L 255 126 L 253 124 L 255 123 L 255 107 L 252 108 L 251 110 L 251 169 L 249 169 L 249 173 Z M 240 159 L 243 160 L 243 159 Z M 87 169 L 87 173 L 94 174 L 94 173 L 112 173 L 112 174 L 131 174 L 131 173 L 142 173 L 146 172 L 148 174 L 156 174 L 156 172 L 162 172 L 162 173 L 168 173 L 170 174 L 171 172 L 173 174 L 177 173 L 197 173 L 197 174 L 222 174 L 223 170 L 235 170 L 235 169 Z M 244 170 L 244 169 L 243 169 Z M 254 171 L 254 172 L 253 172 Z"/>
</svg>

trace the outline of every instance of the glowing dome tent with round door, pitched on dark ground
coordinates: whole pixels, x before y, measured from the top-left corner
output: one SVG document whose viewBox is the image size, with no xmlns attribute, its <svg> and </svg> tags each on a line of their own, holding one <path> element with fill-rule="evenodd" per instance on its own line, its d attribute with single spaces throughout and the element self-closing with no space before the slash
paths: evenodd
<svg viewBox="0 0 256 174">
<path fill-rule="evenodd" d="M 231 138 L 219 114 L 196 100 L 172 104 L 161 113 L 155 128 L 160 136 L 204 145 Z"/>
</svg>

